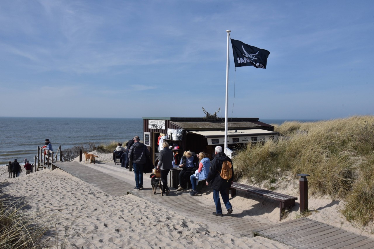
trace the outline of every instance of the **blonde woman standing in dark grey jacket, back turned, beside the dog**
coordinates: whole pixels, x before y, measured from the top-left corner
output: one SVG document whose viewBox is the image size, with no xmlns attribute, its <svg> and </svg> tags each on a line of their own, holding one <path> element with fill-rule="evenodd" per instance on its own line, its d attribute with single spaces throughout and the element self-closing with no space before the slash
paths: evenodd
<svg viewBox="0 0 374 249">
<path fill-rule="evenodd" d="M 168 187 L 168 174 L 171 168 L 173 168 L 173 152 L 169 149 L 169 143 L 162 143 L 163 149 L 160 151 L 160 159 L 157 164 L 157 169 L 161 169 L 161 181 L 162 191 L 166 191 L 166 195 L 169 195 L 170 189 Z"/>
</svg>

